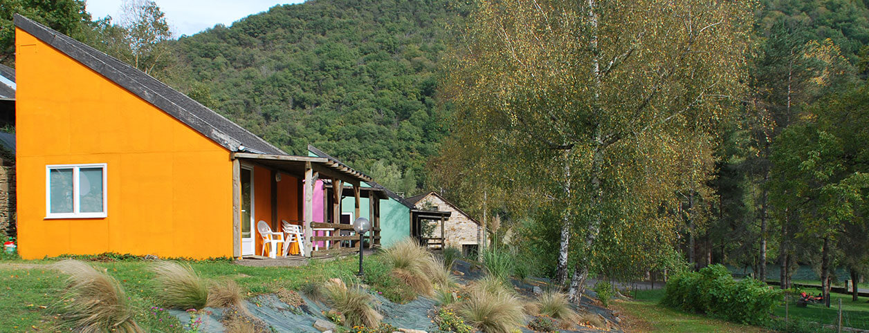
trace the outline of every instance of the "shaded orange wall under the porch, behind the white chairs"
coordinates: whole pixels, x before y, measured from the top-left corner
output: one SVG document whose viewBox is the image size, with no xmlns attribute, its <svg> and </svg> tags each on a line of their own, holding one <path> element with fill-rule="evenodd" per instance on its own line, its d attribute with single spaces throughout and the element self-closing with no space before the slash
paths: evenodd
<svg viewBox="0 0 869 333">
<path fill-rule="evenodd" d="M 281 181 L 277 182 L 277 220 L 272 221 L 271 200 L 271 170 L 264 167 L 254 167 L 254 217 L 255 222 L 266 221 L 271 225 L 272 231 L 281 232 L 281 220 L 298 220 L 299 213 L 299 180 L 287 173 L 281 173 Z M 257 234 L 255 238 L 255 253 L 262 251 L 262 237 Z M 268 255 L 268 253 L 266 253 Z"/>
</svg>

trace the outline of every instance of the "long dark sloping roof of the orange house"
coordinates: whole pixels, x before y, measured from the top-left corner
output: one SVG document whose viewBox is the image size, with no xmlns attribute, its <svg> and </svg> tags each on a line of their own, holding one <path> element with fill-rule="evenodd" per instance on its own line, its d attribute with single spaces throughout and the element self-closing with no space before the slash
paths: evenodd
<svg viewBox="0 0 869 333">
<path fill-rule="evenodd" d="M 287 154 L 187 95 L 83 42 L 78 42 L 70 36 L 17 14 L 15 25 L 160 108 L 231 152 Z"/>
</svg>

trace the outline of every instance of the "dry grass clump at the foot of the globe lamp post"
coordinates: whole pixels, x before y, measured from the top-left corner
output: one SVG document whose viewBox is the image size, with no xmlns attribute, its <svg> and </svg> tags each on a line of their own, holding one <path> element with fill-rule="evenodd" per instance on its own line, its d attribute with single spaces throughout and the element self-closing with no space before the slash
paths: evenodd
<svg viewBox="0 0 869 333">
<path fill-rule="evenodd" d="M 348 288 L 342 280 L 331 278 L 323 284 L 323 293 L 326 296 L 326 303 L 333 310 L 341 312 L 347 318 L 346 324 L 350 327 L 377 327 L 383 319 L 383 316 L 371 307 L 375 297 L 359 286 Z"/>
</svg>

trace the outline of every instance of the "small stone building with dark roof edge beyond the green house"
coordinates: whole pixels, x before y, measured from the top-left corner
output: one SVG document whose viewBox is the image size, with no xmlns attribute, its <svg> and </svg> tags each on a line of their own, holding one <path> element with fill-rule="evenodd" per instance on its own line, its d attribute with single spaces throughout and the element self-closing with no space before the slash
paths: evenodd
<svg viewBox="0 0 869 333">
<path fill-rule="evenodd" d="M 475 254 L 481 241 L 480 222 L 463 212 L 453 203 L 443 199 L 440 194 L 429 192 L 408 198 L 418 209 L 452 212 L 443 224 L 443 238 L 446 246 L 461 249 L 465 255 Z M 440 222 L 430 221 L 434 235 L 440 235 Z"/>
</svg>

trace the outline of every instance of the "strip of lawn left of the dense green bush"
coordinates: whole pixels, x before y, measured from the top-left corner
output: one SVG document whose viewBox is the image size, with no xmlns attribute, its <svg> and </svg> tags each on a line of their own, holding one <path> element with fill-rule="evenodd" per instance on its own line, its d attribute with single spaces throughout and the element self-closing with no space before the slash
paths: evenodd
<svg viewBox="0 0 869 333">
<path fill-rule="evenodd" d="M 617 301 L 626 331 L 641 332 L 766 332 L 760 327 L 730 323 L 720 319 L 673 310 L 660 305 L 663 290 L 637 291 L 631 301 Z"/>
</svg>

